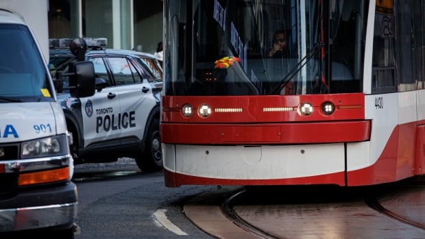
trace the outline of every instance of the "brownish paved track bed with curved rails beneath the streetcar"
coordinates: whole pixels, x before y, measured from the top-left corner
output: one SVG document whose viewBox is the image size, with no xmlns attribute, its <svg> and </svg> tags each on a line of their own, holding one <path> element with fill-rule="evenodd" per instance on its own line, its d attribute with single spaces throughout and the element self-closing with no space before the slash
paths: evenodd
<svg viewBox="0 0 425 239">
<path fill-rule="evenodd" d="M 425 178 L 418 179 L 360 188 L 219 188 L 186 204 L 184 212 L 199 228 L 217 238 L 359 238 L 372 234 L 422 238 Z M 313 194 L 315 197 L 311 197 Z M 330 224 L 326 223 L 328 218 Z M 305 223 L 311 226 L 304 230 Z M 341 228 L 335 232 L 339 225 Z M 351 230 L 345 225 L 363 230 Z"/>
</svg>

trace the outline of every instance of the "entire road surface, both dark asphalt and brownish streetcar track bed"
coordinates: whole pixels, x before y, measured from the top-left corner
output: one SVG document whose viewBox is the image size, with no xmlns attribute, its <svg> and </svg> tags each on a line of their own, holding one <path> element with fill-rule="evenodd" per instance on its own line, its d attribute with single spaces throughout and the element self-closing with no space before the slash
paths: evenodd
<svg viewBox="0 0 425 239">
<path fill-rule="evenodd" d="M 271 238 L 425 238 L 423 228 L 409 225 L 425 225 L 424 179 L 383 188 L 251 188 L 230 204 L 254 231 L 278 235 Z M 76 239 L 263 238 L 236 226 L 240 219 L 232 222 L 220 210 L 223 200 L 243 187 L 167 188 L 162 172 L 142 173 L 131 161 L 77 166 L 74 181 Z M 393 214 L 374 210 L 375 199 Z"/>
</svg>

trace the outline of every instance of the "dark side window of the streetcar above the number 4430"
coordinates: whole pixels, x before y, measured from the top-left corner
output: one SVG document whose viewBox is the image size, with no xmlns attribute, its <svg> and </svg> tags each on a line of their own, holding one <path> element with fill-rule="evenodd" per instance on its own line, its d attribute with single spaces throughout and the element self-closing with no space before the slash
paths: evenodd
<svg viewBox="0 0 425 239">
<path fill-rule="evenodd" d="M 419 1 L 376 1 L 372 93 L 424 88 L 423 9 Z"/>
</svg>

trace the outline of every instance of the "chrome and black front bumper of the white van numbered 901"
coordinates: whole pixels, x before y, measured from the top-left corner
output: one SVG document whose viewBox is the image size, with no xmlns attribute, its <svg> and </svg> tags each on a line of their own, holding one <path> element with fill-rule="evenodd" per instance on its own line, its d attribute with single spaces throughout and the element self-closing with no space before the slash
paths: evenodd
<svg viewBox="0 0 425 239">
<path fill-rule="evenodd" d="M 77 216 L 77 187 L 64 186 L 19 192 L 0 198 L 0 233 L 54 227 L 73 227 Z M 1 236 L 0 236 L 1 237 Z"/>
</svg>

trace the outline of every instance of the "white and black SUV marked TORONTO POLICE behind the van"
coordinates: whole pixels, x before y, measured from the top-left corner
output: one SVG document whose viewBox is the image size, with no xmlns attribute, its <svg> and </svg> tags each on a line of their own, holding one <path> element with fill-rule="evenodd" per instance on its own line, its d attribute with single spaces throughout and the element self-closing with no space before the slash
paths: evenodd
<svg viewBox="0 0 425 239">
<path fill-rule="evenodd" d="M 142 171 L 162 169 L 159 121 L 162 68 L 148 53 L 106 49 L 106 38 L 84 38 L 88 51 L 80 58 L 93 62 L 96 92 L 74 98 L 58 94 L 71 132 L 75 164 L 134 158 Z M 75 56 L 69 39 L 50 39 L 50 71 L 64 87 Z"/>
</svg>

